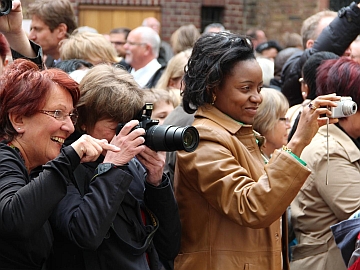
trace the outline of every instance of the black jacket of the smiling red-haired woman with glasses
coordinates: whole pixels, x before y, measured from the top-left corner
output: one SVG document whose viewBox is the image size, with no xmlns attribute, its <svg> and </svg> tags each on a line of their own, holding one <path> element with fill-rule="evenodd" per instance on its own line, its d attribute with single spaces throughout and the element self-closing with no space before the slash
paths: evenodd
<svg viewBox="0 0 360 270">
<path fill-rule="evenodd" d="M 0 269 L 46 269 L 48 221 L 80 158 L 72 147 L 29 175 L 15 149 L 0 143 Z M 40 173 L 39 173 L 40 172 Z"/>
</svg>

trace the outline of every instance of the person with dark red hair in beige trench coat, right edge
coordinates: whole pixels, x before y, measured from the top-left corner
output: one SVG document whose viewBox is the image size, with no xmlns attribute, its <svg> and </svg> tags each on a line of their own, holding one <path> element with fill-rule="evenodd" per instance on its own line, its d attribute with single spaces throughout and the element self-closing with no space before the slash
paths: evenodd
<svg viewBox="0 0 360 270">
<path fill-rule="evenodd" d="M 317 68 L 317 95 L 336 93 L 360 106 L 360 64 L 346 57 L 325 60 Z M 352 111 L 353 106 L 345 105 Z M 336 110 L 342 111 L 339 105 Z M 334 113 L 335 114 L 335 113 Z M 311 174 L 291 204 L 298 240 L 291 269 L 347 269 L 330 226 L 360 208 L 360 112 L 339 116 L 320 127 L 301 158 Z M 355 243 L 355 240 L 354 240 Z"/>
</svg>

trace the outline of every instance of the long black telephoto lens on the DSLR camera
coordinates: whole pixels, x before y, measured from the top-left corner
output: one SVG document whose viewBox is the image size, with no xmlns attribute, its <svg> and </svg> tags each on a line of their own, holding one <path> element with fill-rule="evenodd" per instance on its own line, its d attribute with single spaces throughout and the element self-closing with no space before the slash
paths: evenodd
<svg viewBox="0 0 360 270">
<path fill-rule="evenodd" d="M 193 126 L 154 125 L 146 130 L 145 145 L 154 151 L 193 152 L 199 145 L 199 132 Z"/>
</svg>

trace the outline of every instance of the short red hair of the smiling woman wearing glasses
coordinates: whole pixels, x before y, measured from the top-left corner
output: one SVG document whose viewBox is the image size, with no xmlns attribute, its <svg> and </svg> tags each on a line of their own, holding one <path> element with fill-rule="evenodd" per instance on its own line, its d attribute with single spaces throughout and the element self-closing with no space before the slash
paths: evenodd
<svg viewBox="0 0 360 270">
<path fill-rule="evenodd" d="M 17 59 L 0 80 L 0 137 L 12 140 L 17 132 L 9 121 L 9 113 L 31 116 L 45 104 L 54 85 L 67 90 L 74 107 L 80 98 L 79 84 L 60 69 L 39 70 L 33 62 Z"/>
</svg>

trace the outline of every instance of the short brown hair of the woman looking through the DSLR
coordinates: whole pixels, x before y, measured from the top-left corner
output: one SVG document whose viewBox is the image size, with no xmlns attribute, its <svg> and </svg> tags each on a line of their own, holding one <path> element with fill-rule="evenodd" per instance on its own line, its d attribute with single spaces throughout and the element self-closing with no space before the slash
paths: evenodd
<svg viewBox="0 0 360 270">
<path fill-rule="evenodd" d="M 144 90 L 127 71 L 99 64 L 80 83 L 78 128 L 92 130 L 99 120 L 112 119 L 126 123 L 134 119 L 144 106 Z"/>
</svg>

